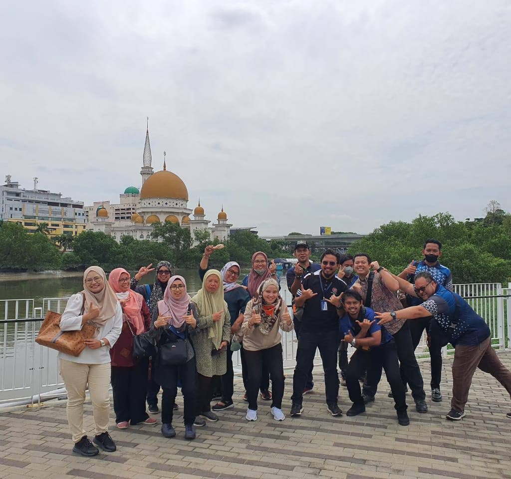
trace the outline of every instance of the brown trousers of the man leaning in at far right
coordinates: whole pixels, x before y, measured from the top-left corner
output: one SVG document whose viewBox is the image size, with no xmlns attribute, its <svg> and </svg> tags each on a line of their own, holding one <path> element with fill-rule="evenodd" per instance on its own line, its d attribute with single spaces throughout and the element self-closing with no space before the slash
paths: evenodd
<svg viewBox="0 0 511 479">
<path fill-rule="evenodd" d="M 454 362 L 452 363 L 451 408 L 455 411 L 461 413 L 465 410 L 472 376 L 476 368 L 490 373 L 511 395 L 511 371 L 500 362 L 492 348 L 490 338 L 474 346 L 457 345 L 454 348 Z"/>
</svg>

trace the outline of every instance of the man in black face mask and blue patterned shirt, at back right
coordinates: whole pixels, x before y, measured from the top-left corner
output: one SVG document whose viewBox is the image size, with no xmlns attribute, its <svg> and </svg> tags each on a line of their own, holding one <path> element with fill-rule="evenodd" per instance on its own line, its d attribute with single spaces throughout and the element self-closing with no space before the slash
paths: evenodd
<svg viewBox="0 0 511 479">
<path fill-rule="evenodd" d="M 403 270 L 399 277 L 407 279 L 413 283 L 413 278 L 419 273 L 429 273 L 435 280 L 436 284 L 444 286 L 452 292 L 452 274 L 451 270 L 444 265 L 440 265 L 438 258 L 442 256 L 442 243 L 433 238 L 426 240 L 422 250 L 424 259 L 416 264 L 412 261 L 408 267 Z M 415 265 L 414 265 L 415 263 Z M 421 298 L 416 296 L 408 296 L 407 303 L 409 306 L 417 306 L 422 303 Z M 440 393 L 440 379 L 442 378 L 442 337 L 443 334 L 435 332 L 430 334 L 430 329 L 437 329 L 435 323 L 431 322 L 431 318 L 420 318 L 416 321 L 410 321 L 410 332 L 412 334 L 413 348 L 416 349 L 421 342 L 424 330 L 428 335 L 428 349 L 431 360 L 431 400 L 434 402 L 442 401 L 442 393 Z M 403 371 L 401 377 L 406 384 Z"/>
</svg>

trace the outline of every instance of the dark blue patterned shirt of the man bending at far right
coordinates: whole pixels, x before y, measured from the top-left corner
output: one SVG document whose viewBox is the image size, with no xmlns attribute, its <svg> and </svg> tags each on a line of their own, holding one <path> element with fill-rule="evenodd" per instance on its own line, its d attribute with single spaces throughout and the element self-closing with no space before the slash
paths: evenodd
<svg viewBox="0 0 511 479">
<path fill-rule="evenodd" d="M 453 346 L 477 345 L 490 336 L 490 328 L 484 319 L 461 296 L 450 292 L 444 286 L 438 285 L 435 294 L 421 306 L 431 313 Z"/>
</svg>

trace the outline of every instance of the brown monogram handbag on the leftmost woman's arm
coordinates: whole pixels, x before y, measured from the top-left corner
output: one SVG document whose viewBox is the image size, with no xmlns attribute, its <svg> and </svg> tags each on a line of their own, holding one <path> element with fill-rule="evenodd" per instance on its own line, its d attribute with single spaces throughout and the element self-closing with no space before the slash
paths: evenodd
<svg viewBox="0 0 511 479">
<path fill-rule="evenodd" d="M 85 296 L 83 293 L 81 295 L 83 296 L 83 305 L 80 315 L 83 315 Z M 49 311 L 41 324 L 35 342 L 71 356 L 79 356 L 85 349 L 84 340 L 92 338 L 96 328 L 91 324 L 84 324 L 78 331 L 61 331 L 61 317 L 61 314 Z"/>
</svg>

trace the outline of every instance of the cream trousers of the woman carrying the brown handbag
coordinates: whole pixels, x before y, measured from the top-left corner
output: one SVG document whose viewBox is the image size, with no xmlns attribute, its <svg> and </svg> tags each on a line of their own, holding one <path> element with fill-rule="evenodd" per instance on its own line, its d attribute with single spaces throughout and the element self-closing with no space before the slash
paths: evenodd
<svg viewBox="0 0 511 479">
<path fill-rule="evenodd" d="M 83 403 L 85 390 L 89 389 L 90 401 L 96 424 L 95 434 L 106 433 L 110 414 L 110 363 L 81 364 L 60 360 L 60 375 L 64 379 L 67 391 L 67 422 L 73 435 L 73 442 L 78 442 L 86 432 L 83 429 Z"/>
</svg>

